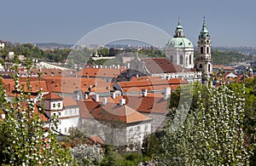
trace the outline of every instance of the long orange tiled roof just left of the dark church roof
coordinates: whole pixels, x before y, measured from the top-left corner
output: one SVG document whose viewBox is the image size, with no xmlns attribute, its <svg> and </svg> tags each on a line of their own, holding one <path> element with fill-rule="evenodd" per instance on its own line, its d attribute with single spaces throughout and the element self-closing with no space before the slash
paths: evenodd
<svg viewBox="0 0 256 166">
<path fill-rule="evenodd" d="M 79 77 L 117 77 L 121 69 L 110 69 L 110 68 L 84 68 L 83 70 L 74 73 L 75 76 Z"/>
</svg>

